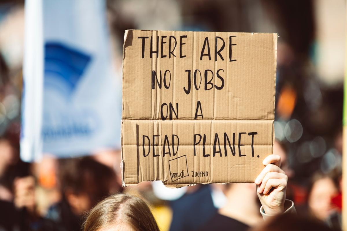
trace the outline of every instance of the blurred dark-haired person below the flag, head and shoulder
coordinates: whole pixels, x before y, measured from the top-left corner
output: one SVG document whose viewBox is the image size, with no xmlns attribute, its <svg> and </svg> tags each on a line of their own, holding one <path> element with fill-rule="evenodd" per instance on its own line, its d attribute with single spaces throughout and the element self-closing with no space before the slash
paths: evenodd
<svg viewBox="0 0 347 231">
<path fill-rule="evenodd" d="M 60 160 L 62 199 L 53 205 L 47 218 L 63 231 L 78 231 L 83 214 L 96 203 L 120 190 L 115 172 L 92 157 Z"/>
</svg>

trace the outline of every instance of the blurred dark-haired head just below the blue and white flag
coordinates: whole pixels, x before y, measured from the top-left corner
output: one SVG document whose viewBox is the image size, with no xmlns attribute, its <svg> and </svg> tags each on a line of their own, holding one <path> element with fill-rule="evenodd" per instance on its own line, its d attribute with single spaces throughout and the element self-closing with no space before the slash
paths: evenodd
<svg viewBox="0 0 347 231">
<path fill-rule="evenodd" d="M 91 157 L 60 161 L 62 195 L 79 215 L 110 195 L 115 172 Z"/>
</svg>

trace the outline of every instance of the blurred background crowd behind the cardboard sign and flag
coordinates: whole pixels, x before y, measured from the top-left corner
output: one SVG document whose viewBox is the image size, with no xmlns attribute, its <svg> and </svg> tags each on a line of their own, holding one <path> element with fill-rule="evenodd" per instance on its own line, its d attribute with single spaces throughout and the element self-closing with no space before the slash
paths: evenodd
<svg viewBox="0 0 347 231">
<path fill-rule="evenodd" d="M 252 184 L 122 187 L 120 149 L 102 147 L 81 158 L 46 154 L 39 162 L 21 161 L 24 2 L 2 1 L 0 230 L 81 230 L 86 212 L 116 193 L 144 199 L 163 231 L 213 230 L 223 217 L 239 221 L 239 230 L 340 230 L 345 9 L 342 0 L 107 1 L 119 72 L 125 29 L 279 34 L 273 152 L 281 156 L 287 198 L 298 216 L 282 215 L 259 226 L 263 218 Z"/>
</svg>

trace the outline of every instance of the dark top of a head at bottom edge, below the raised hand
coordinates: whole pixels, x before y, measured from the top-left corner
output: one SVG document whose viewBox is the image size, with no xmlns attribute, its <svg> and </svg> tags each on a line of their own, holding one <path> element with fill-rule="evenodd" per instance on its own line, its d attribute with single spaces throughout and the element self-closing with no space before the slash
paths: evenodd
<svg viewBox="0 0 347 231">
<path fill-rule="evenodd" d="M 312 217 L 299 216 L 297 214 L 283 213 L 275 216 L 272 219 L 266 220 L 251 229 L 251 231 L 307 231 L 320 230 L 331 231 L 323 222 L 314 220 Z"/>
</svg>

